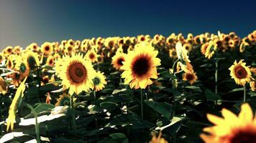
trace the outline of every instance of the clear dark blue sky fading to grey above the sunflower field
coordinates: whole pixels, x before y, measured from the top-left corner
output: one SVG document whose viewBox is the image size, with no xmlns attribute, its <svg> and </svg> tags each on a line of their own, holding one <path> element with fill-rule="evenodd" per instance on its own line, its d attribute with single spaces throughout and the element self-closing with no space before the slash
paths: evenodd
<svg viewBox="0 0 256 143">
<path fill-rule="evenodd" d="M 32 42 L 256 29 L 256 1 L 0 0 L 0 49 Z"/>
</svg>

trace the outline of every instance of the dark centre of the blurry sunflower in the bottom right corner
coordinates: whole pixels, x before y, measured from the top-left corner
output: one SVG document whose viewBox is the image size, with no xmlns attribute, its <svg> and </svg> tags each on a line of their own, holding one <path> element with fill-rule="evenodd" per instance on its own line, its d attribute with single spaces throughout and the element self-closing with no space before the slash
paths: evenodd
<svg viewBox="0 0 256 143">
<path fill-rule="evenodd" d="M 256 134 L 255 132 L 238 132 L 231 139 L 231 143 L 255 143 Z"/>
</svg>

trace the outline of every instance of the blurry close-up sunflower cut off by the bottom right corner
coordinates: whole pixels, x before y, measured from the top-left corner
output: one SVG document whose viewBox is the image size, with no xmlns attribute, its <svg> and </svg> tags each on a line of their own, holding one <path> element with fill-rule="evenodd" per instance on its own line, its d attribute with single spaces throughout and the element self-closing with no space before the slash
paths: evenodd
<svg viewBox="0 0 256 143">
<path fill-rule="evenodd" d="M 242 104 L 238 116 L 227 109 L 222 109 L 221 114 L 223 118 L 207 114 L 207 118 L 214 126 L 204 128 L 204 132 L 209 133 L 200 135 L 204 142 L 255 142 L 256 117 L 253 116 L 249 104 Z"/>
</svg>

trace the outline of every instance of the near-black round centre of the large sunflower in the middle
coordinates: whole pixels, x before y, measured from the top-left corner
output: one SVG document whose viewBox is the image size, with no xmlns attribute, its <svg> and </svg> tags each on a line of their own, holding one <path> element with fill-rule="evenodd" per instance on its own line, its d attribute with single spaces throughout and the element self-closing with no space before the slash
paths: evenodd
<svg viewBox="0 0 256 143">
<path fill-rule="evenodd" d="M 132 71 L 138 76 L 146 74 L 148 69 L 150 69 L 150 64 L 146 57 L 141 57 L 134 61 Z"/>
</svg>

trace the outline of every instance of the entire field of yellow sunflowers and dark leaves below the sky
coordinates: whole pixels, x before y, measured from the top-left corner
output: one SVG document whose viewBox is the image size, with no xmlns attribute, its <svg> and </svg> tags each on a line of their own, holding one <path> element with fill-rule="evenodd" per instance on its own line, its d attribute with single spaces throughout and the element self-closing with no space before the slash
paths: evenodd
<svg viewBox="0 0 256 143">
<path fill-rule="evenodd" d="M 256 31 L 0 53 L 0 142 L 256 142 Z"/>
</svg>

